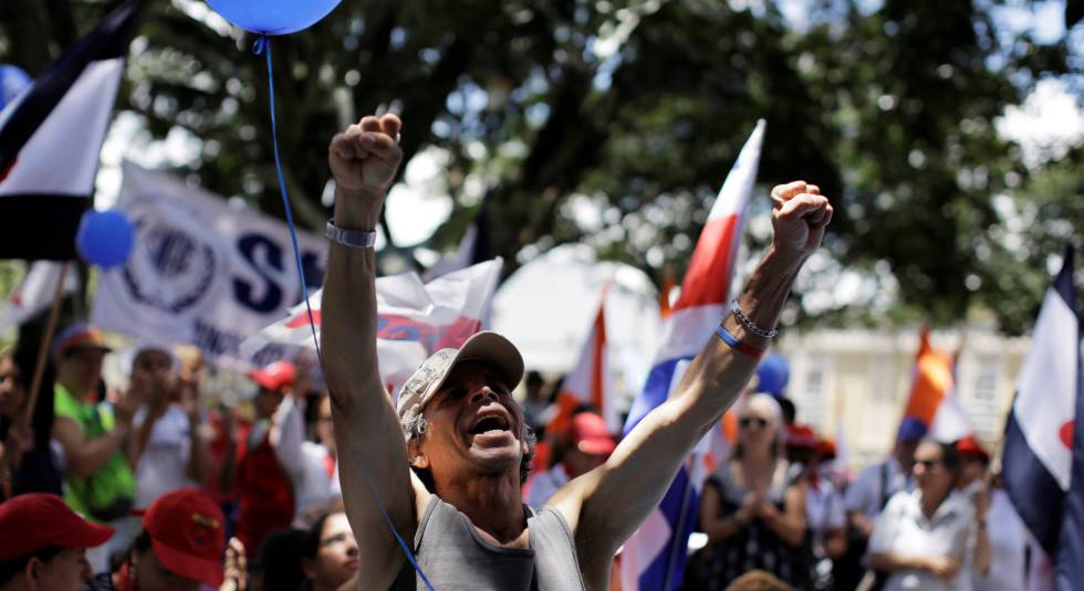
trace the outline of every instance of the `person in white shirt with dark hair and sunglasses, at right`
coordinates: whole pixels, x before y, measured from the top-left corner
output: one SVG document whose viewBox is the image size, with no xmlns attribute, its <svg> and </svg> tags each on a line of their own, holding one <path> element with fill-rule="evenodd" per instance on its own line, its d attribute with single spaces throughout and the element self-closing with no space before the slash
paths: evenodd
<svg viewBox="0 0 1084 591">
<path fill-rule="evenodd" d="M 971 589 L 979 524 L 971 502 L 955 488 L 960 454 L 952 444 L 924 440 L 913 469 L 915 489 L 894 495 L 877 518 L 869 566 L 887 573 L 884 591 Z"/>
</svg>

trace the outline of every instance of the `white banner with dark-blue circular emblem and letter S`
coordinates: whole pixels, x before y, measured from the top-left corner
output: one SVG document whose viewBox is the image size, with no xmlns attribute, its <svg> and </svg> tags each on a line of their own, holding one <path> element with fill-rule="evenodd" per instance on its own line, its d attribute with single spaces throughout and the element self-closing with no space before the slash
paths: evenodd
<svg viewBox="0 0 1084 591">
<path fill-rule="evenodd" d="M 290 232 L 282 222 L 131 162 L 117 208 L 136 229 L 127 263 L 102 274 L 91 321 L 101 328 L 195 345 L 238 369 L 282 357 L 271 346 L 240 352 L 249 335 L 301 300 Z M 323 282 L 324 240 L 299 234 L 305 277 Z"/>
</svg>

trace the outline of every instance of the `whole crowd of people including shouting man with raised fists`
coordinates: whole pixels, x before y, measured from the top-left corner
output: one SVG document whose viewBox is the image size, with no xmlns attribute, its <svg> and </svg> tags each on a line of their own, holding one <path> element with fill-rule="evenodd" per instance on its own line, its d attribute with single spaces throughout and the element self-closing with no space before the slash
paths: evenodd
<svg viewBox="0 0 1084 591">
<path fill-rule="evenodd" d="M 987 519 L 1009 505 L 977 442 L 903 429 L 851 481 L 793 404 L 744 392 L 832 218 L 804 181 L 772 190 L 772 246 L 718 339 L 623 440 L 597 409 L 554 409 L 541 376 L 515 402 L 523 359 L 489 331 L 434 352 L 393 401 L 373 239 L 400 125 L 365 117 L 329 150 L 326 388 L 278 361 L 237 413 L 209 404 L 198 358 L 149 341 L 119 352 L 127 386 L 110 388 L 117 353 L 85 325 L 52 342 L 38 392 L 34 347 L 0 355 L 0 591 L 617 588 L 618 550 L 731 407 L 687 589 L 1017 588 L 1025 561 L 992 557 L 1021 536 Z"/>
</svg>

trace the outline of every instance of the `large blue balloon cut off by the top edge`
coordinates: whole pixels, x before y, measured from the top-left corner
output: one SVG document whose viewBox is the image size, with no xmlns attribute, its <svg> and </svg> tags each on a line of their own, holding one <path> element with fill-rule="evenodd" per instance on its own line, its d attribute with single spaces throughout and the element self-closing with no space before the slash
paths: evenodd
<svg viewBox="0 0 1084 591">
<path fill-rule="evenodd" d="M 252 33 L 286 35 L 309 29 L 342 0 L 207 0 L 223 19 Z"/>
</svg>

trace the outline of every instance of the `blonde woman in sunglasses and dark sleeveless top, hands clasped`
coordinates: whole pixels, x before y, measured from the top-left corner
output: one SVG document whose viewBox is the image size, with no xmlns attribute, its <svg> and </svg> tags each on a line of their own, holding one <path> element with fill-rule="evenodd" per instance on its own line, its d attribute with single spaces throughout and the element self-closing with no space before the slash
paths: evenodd
<svg viewBox="0 0 1084 591">
<path fill-rule="evenodd" d="M 769 394 L 738 403 L 738 444 L 703 485 L 700 529 L 708 546 L 686 570 L 685 589 L 722 590 L 760 569 L 795 588 L 809 582 L 805 495 L 786 477 L 782 412 Z"/>
</svg>

